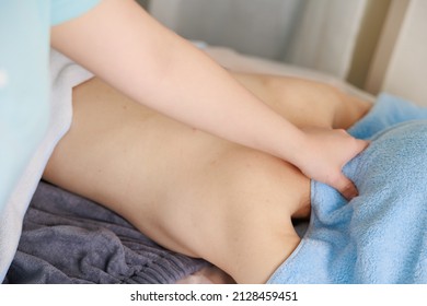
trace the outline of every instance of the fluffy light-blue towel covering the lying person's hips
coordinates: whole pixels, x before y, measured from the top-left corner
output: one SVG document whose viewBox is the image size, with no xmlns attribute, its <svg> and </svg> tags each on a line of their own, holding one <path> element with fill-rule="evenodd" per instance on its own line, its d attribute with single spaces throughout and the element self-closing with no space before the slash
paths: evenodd
<svg viewBox="0 0 427 306">
<path fill-rule="evenodd" d="M 427 283 L 427 108 L 382 94 L 349 129 L 371 139 L 346 201 L 312 181 L 309 228 L 268 283 Z"/>
</svg>

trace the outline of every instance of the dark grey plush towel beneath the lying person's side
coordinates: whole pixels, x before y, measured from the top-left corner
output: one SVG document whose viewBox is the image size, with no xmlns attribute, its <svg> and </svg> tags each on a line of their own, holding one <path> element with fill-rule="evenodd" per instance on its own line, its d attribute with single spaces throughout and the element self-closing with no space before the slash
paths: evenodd
<svg viewBox="0 0 427 306">
<path fill-rule="evenodd" d="M 174 283 L 207 264 L 160 247 L 114 212 L 41 181 L 4 283 Z"/>
</svg>

